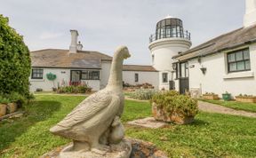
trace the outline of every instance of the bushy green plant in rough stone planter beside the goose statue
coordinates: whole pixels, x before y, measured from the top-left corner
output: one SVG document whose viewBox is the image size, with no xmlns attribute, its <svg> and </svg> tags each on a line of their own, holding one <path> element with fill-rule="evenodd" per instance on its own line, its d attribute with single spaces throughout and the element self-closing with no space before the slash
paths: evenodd
<svg viewBox="0 0 256 158">
<path fill-rule="evenodd" d="M 187 124 L 198 113 L 197 100 L 177 91 L 156 93 L 151 99 L 152 114 L 157 121 Z"/>
</svg>

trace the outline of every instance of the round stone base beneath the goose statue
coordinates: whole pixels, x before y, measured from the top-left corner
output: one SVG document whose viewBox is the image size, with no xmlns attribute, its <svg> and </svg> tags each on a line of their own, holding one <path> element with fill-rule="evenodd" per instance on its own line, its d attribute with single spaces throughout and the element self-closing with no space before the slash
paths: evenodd
<svg viewBox="0 0 256 158">
<path fill-rule="evenodd" d="M 117 145 L 110 145 L 110 148 L 108 151 L 73 151 L 72 145 L 65 147 L 59 155 L 59 158 L 73 158 L 73 157 L 79 157 L 79 158 L 129 158 L 132 146 L 131 143 L 127 140 L 121 141 Z"/>
</svg>

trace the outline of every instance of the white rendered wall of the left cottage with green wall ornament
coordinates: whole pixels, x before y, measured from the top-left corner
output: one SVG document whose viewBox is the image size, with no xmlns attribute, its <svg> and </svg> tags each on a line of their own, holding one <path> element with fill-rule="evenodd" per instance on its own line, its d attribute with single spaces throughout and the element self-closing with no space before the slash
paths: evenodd
<svg viewBox="0 0 256 158">
<path fill-rule="evenodd" d="M 41 69 L 41 68 L 40 68 Z M 68 68 L 43 68 L 44 75 L 43 79 L 31 79 L 31 75 L 29 77 L 30 82 L 30 91 L 36 91 L 37 88 L 43 89 L 43 91 L 52 91 L 53 83 L 46 78 L 46 74 L 52 73 L 57 76 L 56 80 L 54 80 L 54 85 L 57 88 L 58 83 L 62 83 L 62 80 L 65 81 L 66 84 L 70 81 L 70 70 L 76 69 L 68 69 Z M 92 87 L 93 91 L 100 90 L 100 80 L 82 80 L 85 83 L 88 83 L 90 87 Z"/>
</svg>

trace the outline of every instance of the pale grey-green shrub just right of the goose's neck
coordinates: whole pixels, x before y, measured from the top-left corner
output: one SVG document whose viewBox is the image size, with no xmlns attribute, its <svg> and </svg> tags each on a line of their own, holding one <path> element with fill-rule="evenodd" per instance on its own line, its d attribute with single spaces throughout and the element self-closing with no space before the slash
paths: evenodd
<svg viewBox="0 0 256 158">
<path fill-rule="evenodd" d="M 152 96 L 157 93 L 156 90 L 152 89 L 139 89 L 131 93 L 132 99 L 152 99 Z"/>
</svg>

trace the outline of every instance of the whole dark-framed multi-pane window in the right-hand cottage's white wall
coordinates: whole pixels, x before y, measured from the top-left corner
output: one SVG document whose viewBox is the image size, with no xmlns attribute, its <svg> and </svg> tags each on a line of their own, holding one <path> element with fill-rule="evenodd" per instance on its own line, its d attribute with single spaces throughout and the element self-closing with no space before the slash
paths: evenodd
<svg viewBox="0 0 256 158">
<path fill-rule="evenodd" d="M 228 53 L 228 72 L 251 70 L 249 49 Z"/>
</svg>

